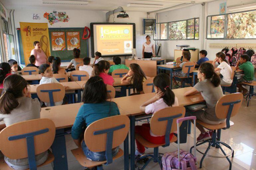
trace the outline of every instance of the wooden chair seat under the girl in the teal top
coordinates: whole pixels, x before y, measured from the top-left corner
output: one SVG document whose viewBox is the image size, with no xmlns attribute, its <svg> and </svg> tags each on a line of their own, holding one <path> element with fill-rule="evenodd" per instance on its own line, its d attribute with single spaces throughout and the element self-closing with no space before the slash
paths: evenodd
<svg viewBox="0 0 256 170">
<path fill-rule="evenodd" d="M 75 156 L 76 160 L 83 167 L 89 167 L 90 168 L 90 167 L 102 165 L 102 164 L 107 162 L 107 161 L 91 161 L 91 160 L 87 159 L 86 156 L 83 153 L 82 148 L 73 149 L 73 150 L 71 150 L 71 152 Z M 115 157 L 113 157 L 113 160 L 123 156 L 123 154 L 124 154 L 124 151 L 119 148 L 118 153 Z"/>
</svg>

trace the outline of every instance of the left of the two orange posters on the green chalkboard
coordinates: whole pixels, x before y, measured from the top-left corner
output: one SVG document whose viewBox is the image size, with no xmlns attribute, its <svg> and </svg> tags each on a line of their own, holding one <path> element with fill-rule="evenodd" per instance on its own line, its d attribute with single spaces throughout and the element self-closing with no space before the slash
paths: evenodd
<svg viewBox="0 0 256 170">
<path fill-rule="evenodd" d="M 52 50 L 53 51 L 66 50 L 65 33 L 64 32 L 52 32 Z"/>
</svg>

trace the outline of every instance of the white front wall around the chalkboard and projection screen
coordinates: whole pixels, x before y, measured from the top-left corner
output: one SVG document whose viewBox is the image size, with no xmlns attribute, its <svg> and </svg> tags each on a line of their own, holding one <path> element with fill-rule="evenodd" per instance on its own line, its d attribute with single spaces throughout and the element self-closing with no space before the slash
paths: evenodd
<svg viewBox="0 0 256 170">
<path fill-rule="evenodd" d="M 47 19 L 43 17 L 45 12 L 52 12 L 53 10 L 21 10 L 17 9 L 14 11 L 14 23 L 15 23 L 15 31 L 16 28 L 20 27 L 19 22 L 48 22 Z M 67 27 L 90 27 L 90 22 L 105 22 L 105 13 L 107 11 L 74 11 L 74 10 L 64 10 L 68 15 L 68 22 L 57 22 L 51 25 L 48 23 L 49 28 L 67 28 Z M 40 20 L 33 20 L 32 16 L 34 13 L 40 14 Z M 137 55 L 142 56 L 142 43 L 145 40 L 144 35 L 142 35 L 142 19 L 147 18 L 147 13 L 145 12 L 127 12 L 129 18 L 116 18 L 115 14 L 115 22 L 134 22 L 136 25 L 136 49 Z M 109 22 L 113 22 L 113 15 L 110 16 Z M 13 21 L 12 21 L 13 23 Z M 14 31 L 14 25 L 13 31 Z M 17 36 L 17 32 L 16 32 Z M 18 42 L 18 39 L 17 39 Z M 91 43 L 89 38 L 89 56 L 91 57 Z M 19 47 L 18 47 L 19 48 Z M 19 50 L 19 49 L 18 49 Z M 19 54 L 18 54 L 19 55 Z M 124 58 L 122 57 L 122 62 L 124 63 Z M 108 58 L 110 59 L 110 58 Z M 94 60 L 92 59 L 91 62 Z M 66 65 L 63 63 L 62 65 Z"/>
</svg>

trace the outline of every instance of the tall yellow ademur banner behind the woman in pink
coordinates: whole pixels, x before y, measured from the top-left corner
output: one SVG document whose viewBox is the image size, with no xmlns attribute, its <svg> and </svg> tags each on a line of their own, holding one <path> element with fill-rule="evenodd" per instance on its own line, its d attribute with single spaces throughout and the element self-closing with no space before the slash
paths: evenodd
<svg viewBox="0 0 256 170">
<path fill-rule="evenodd" d="M 47 58 L 51 55 L 47 23 L 20 22 L 20 30 L 26 65 L 29 64 L 31 50 L 35 48 L 34 41 L 40 42 L 41 50 Z"/>
</svg>

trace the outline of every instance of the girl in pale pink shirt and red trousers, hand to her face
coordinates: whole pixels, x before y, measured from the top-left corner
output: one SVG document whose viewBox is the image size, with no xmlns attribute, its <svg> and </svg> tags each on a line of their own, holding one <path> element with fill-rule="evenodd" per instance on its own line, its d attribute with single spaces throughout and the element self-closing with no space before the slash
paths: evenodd
<svg viewBox="0 0 256 170">
<path fill-rule="evenodd" d="M 146 114 L 155 113 L 166 107 L 179 106 L 178 98 L 175 97 L 173 91 L 170 89 L 171 84 L 170 77 L 165 73 L 158 74 L 154 80 L 154 88 L 156 95 L 143 103 L 140 106 L 141 111 Z M 153 144 L 165 144 L 165 136 L 156 136 L 150 130 L 150 123 L 144 123 L 141 126 L 135 126 L 135 133 L 140 134 L 144 139 Z M 170 134 L 170 139 L 172 139 L 173 134 Z M 141 156 L 145 153 L 145 147 L 141 145 L 137 140 L 137 149 L 135 151 L 135 156 Z"/>
</svg>

